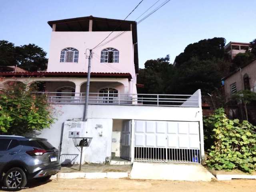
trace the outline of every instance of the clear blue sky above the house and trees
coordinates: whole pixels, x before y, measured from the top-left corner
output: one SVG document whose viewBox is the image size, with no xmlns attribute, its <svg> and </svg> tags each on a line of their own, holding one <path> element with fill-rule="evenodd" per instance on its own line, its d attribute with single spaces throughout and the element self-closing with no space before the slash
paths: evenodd
<svg viewBox="0 0 256 192">
<path fill-rule="evenodd" d="M 127 20 L 136 20 L 156 1 L 144 0 Z M 52 29 L 47 21 L 90 15 L 122 20 L 139 2 L 0 0 L 0 40 L 16 46 L 34 43 L 48 52 Z M 167 54 L 173 63 L 188 44 L 206 38 L 224 37 L 227 43 L 252 41 L 256 38 L 255 8 L 256 0 L 170 0 L 138 24 L 140 68 L 144 68 L 146 60 Z"/>
</svg>

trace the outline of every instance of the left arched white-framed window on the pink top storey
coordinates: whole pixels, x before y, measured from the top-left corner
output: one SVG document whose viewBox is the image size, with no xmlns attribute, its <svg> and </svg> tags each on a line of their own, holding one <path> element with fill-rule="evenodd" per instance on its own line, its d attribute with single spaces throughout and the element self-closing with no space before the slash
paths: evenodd
<svg viewBox="0 0 256 192">
<path fill-rule="evenodd" d="M 62 49 L 60 52 L 60 62 L 78 62 L 78 50 L 72 47 Z"/>
</svg>

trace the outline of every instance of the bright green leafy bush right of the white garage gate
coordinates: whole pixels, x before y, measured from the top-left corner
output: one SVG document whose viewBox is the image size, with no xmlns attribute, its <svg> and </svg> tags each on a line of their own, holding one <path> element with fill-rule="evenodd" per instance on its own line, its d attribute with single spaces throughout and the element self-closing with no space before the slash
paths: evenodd
<svg viewBox="0 0 256 192">
<path fill-rule="evenodd" d="M 229 120 L 220 108 L 204 119 L 213 145 L 208 150 L 208 167 L 217 170 L 256 170 L 256 127 L 248 121 Z"/>
</svg>

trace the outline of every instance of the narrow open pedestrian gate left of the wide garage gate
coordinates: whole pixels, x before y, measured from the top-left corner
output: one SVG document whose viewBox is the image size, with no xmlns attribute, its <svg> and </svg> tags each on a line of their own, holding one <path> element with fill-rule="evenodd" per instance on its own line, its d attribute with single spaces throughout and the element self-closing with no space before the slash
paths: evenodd
<svg viewBox="0 0 256 192">
<path fill-rule="evenodd" d="M 120 157 L 126 160 L 131 160 L 131 128 L 132 121 L 124 120 L 121 133 Z"/>
</svg>

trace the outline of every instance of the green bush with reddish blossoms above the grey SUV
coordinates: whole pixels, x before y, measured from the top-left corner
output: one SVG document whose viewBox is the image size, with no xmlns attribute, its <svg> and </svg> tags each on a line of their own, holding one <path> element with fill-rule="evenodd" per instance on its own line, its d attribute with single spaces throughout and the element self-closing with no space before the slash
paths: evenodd
<svg viewBox="0 0 256 192">
<path fill-rule="evenodd" d="M 0 92 L 0 134 L 24 135 L 54 122 L 46 97 L 31 94 L 32 90 L 20 82 L 10 82 Z"/>
</svg>

